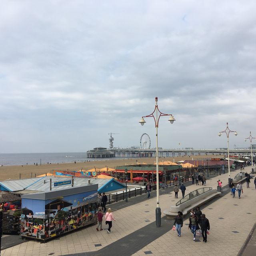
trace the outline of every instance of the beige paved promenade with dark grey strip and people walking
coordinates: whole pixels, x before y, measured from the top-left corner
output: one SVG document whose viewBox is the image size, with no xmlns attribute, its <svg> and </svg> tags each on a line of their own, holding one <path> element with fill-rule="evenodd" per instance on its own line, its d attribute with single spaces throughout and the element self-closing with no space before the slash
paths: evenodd
<svg viewBox="0 0 256 256">
<path fill-rule="evenodd" d="M 250 172 L 251 167 L 244 171 Z M 231 172 L 233 178 L 240 170 Z M 207 178 L 207 177 L 206 177 Z M 250 188 L 243 184 L 244 194 L 241 199 L 232 198 L 228 187 L 228 174 L 222 174 L 206 181 L 206 186 L 216 188 L 220 179 L 224 186 L 224 193 L 201 206 L 201 210 L 210 221 L 208 242 L 203 243 L 202 238 L 193 241 L 193 234 L 188 230 L 188 216 L 184 217 L 181 237 L 172 231 L 174 220 L 167 219 L 162 214 L 162 226 L 156 228 L 155 208 L 156 192 L 147 195 L 129 198 L 128 203 L 117 202 L 111 204 L 116 222 L 113 222 L 111 234 L 106 233 L 107 226 L 102 223 L 103 231 L 96 231 L 96 225 L 78 230 L 66 236 L 61 236 L 45 244 L 28 240 L 22 244 L 2 250 L 2 256 L 167 256 L 182 255 L 255 255 L 255 232 L 248 237 L 256 222 L 256 189 L 251 180 Z M 202 185 L 186 184 L 186 194 L 202 187 Z M 160 190 L 160 207 L 162 212 L 170 205 L 182 198 L 174 198 L 173 188 Z M 185 194 L 185 195 L 186 195 Z M 254 227 L 255 228 L 255 227 Z M 244 243 L 247 246 L 244 246 Z"/>
</svg>

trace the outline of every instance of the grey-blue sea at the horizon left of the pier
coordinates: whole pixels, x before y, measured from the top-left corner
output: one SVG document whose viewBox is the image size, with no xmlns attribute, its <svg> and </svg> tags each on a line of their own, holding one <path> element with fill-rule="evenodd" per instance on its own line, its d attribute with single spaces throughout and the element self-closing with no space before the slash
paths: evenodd
<svg viewBox="0 0 256 256">
<path fill-rule="evenodd" d="M 0 154 L 0 165 L 30 165 L 30 164 L 57 164 L 71 162 L 89 162 L 100 160 L 113 160 L 113 158 L 87 158 L 86 152 L 62 152 L 62 153 L 16 153 Z M 115 159 L 124 159 L 117 158 Z"/>
</svg>

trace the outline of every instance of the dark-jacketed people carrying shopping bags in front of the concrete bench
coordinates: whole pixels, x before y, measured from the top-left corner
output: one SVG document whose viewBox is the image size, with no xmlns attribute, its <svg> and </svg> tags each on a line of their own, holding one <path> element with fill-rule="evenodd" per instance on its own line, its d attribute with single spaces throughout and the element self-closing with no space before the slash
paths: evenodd
<svg viewBox="0 0 256 256">
<path fill-rule="evenodd" d="M 181 228 L 183 226 L 182 215 L 182 212 L 179 211 L 173 224 L 179 237 L 181 236 Z M 188 229 L 193 233 L 193 240 L 196 240 L 196 230 L 201 230 L 203 242 L 207 242 L 207 232 L 210 230 L 210 222 L 205 214 L 202 214 L 199 207 L 196 207 L 195 212 L 193 209 L 190 210 Z"/>
</svg>

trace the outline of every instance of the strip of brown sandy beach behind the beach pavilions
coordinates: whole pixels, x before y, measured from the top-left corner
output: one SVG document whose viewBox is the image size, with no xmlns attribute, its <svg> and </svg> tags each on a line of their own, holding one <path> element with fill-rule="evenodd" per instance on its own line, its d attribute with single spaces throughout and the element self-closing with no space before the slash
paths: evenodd
<svg viewBox="0 0 256 256">
<path fill-rule="evenodd" d="M 215 155 L 208 156 L 179 156 L 179 157 L 162 157 L 159 158 L 160 161 L 181 161 L 181 160 L 210 160 L 211 158 L 216 158 Z M 222 156 L 218 156 L 222 157 Z M 146 162 L 147 164 L 154 164 L 156 161 L 155 157 L 151 158 L 127 158 L 127 159 L 118 159 L 115 158 L 111 160 L 101 160 L 101 161 L 90 161 L 90 162 L 76 162 L 75 163 L 63 163 L 63 164 L 42 164 L 42 165 L 23 165 L 23 166 L 0 166 L 0 181 L 3 180 L 18 180 L 19 178 L 34 178 L 40 174 L 46 172 L 51 172 L 52 170 L 90 170 L 94 167 L 104 168 L 110 167 L 115 168 L 116 166 L 123 166 L 129 164 L 136 164 Z M 195 163 L 196 164 L 196 163 Z"/>
</svg>

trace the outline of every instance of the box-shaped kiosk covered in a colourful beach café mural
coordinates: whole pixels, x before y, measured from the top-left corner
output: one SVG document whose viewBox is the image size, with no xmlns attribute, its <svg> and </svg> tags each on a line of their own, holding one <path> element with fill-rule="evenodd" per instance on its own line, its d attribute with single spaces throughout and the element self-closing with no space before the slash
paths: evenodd
<svg viewBox="0 0 256 256">
<path fill-rule="evenodd" d="M 22 195 L 21 236 L 46 241 L 97 222 L 98 184 Z"/>
</svg>

